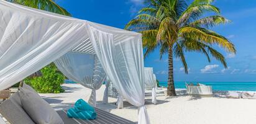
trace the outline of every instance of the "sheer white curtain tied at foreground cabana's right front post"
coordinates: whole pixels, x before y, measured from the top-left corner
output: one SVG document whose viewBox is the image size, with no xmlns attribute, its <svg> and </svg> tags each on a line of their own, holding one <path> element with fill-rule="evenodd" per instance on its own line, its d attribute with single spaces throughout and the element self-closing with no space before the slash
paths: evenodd
<svg viewBox="0 0 256 124">
<path fill-rule="evenodd" d="M 107 33 L 104 27 L 94 25 L 93 27 L 88 25 L 88 30 L 95 53 L 107 76 L 124 99 L 139 107 L 138 123 L 150 123 L 144 105 L 144 59 L 141 35 L 131 34 L 130 38 L 126 38 L 119 31 Z"/>
</svg>

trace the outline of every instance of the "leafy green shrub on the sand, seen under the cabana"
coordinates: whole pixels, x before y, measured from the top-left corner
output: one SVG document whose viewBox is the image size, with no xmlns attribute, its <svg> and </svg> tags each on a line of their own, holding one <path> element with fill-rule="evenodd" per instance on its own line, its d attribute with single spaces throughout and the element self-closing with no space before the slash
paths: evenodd
<svg viewBox="0 0 256 124">
<path fill-rule="evenodd" d="M 32 86 L 35 91 L 40 93 L 55 93 L 64 92 L 61 84 L 63 84 L 65 76 L 58 71 L 55 64 L 51 63 L 42 68 L 43 76 L 35 78 L 26 78 L 25 82 Z"/>
</svg>

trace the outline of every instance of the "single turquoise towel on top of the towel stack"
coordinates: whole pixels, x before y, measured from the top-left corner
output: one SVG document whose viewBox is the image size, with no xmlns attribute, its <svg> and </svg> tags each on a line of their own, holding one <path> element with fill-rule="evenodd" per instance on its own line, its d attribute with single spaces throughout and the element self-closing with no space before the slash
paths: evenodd
<svg viewBox="0 0 256 124">
<path fill-rule="evenodd" d="M 95 112 L 94 108 L 91 107 L 91 105 L 87 104 L 87 102 L 85 102 L 85 100 L 83 100 L 83 99 L 79 99 L 76 101 L 75 110 L 76 110 L 76 112 L 81 112 L 83 110 L 89 110 L 89 111 Z"/>
</svg>

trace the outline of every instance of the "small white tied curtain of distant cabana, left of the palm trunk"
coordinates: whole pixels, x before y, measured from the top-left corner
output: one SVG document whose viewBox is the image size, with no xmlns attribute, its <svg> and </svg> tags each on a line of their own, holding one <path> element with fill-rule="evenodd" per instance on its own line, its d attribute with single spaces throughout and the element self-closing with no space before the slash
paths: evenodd
<svg viewBox="0 0 256 124">
<path fill-rule="evenodd" d="M 144 82 L 146 89 L 152 89 L 152 103 L 157 104 L 157 79 L 153 74 L 153 68 L 144 68 Z"/>
</svg>

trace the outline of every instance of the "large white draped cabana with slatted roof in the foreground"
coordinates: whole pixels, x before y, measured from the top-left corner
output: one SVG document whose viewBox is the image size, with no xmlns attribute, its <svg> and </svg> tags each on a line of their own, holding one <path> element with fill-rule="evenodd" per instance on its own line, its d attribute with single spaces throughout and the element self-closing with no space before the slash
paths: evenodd
<svg viewBox="0 0 256 124">
<path fill-rule="evenodd" d="M 93 72 L 97 70 L 95 64 L 99 61 L 119 94 L 139 107 L 138 122 L 150 123 L 144 106 L 144 61 L 140 33 L 0 0 L 0 40 L 0 90 L 11 87 L 55 60 L 55 63 L 62 65 L 57 64 L 66 76 L 70 74 L 70 78 L 88 86 L 86 76 L 83 79 L 73 73 L 76 62 L 66 63 L 66 60 L 77 60 L 68 52 L 80 53 L 86 58 L 94 56 L 94 62 L 88 62 L 93 63 Z M 96 90 L 98 86 L 93 85 L 101 85 L 99 82 L 102 80 L 95 81 L 94 74 L 90 74 L 89 81 L 95 82 L 91 89 Z"/>
</svg>

